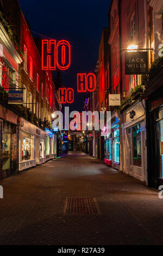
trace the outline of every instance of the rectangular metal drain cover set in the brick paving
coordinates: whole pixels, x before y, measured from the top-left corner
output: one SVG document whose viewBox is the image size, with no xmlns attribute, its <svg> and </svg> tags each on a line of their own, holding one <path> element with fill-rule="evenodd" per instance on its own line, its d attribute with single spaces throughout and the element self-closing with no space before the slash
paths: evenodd
<svg viewBox="0 0 163 256">
<path fill-rule="evenodd" d="M 98 215 L 100 214 L 96 198 L 67 197 L 65 215 Z"/>
</svg>

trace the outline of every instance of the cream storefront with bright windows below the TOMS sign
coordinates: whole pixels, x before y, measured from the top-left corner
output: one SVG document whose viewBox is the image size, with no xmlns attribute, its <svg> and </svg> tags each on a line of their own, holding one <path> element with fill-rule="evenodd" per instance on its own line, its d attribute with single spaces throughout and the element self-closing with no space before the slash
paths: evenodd
<svg viewBox="0 0 163 256">
<path fill-rule="evenodd" d="M 45 131 L 21 118 L 18 170 L 45 162 Z"/>
</svg>

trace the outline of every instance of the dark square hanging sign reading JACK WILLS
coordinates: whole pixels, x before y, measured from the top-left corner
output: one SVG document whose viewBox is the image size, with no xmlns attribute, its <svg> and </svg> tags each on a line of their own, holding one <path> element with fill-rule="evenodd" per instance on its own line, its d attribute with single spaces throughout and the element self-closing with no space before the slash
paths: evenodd
<svg viewBox="0 0 163 256">
<path fill-rule="evenodd" d="M 148 74 L 148 52 L 126 52 L 125 74 L 145 75 Z"/>
</svg>

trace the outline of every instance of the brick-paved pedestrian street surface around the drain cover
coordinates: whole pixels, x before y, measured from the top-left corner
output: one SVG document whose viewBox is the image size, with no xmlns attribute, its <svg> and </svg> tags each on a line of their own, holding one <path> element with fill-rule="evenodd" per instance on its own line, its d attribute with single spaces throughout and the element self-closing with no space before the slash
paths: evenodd
<svg viewBox="0 0 163 256">
<path fill-rule="evenodd" d="M 163 199 L 84 154 L 68 154 L 0 182 L 1 245 L 162 245 Z M 67 197 L 99 214 L 65 215 Z"/>
</svg>

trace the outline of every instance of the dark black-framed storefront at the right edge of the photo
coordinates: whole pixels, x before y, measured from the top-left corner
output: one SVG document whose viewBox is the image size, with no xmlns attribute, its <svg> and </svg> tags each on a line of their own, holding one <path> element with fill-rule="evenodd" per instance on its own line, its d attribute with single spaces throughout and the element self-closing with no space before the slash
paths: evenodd
<svg viewBox="0 0 163 256">
<path fill-rule="evenodd" d="M 163 77 L 163 70 L 162 70 Z M 155 83 L 149 84 L 155 90 L 147 95 L 147 156 L 148 186 L 159 188 L 163 185 L 163 87 L 161 76 Z M 159 88 L 160 87 L 160 88 Z"/>
</svg>

